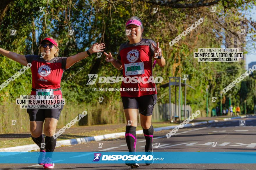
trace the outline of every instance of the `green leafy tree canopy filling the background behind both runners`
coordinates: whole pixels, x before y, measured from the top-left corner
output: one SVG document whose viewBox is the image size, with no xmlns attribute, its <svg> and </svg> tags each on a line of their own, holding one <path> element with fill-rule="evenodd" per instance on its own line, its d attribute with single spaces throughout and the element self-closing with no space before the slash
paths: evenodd
<svg viewBox="0 0 256 170">
<path fill-rule="evenodd" d="M 95 42 L 104 42 L 105 51 L 111 52 L 116 58 L 120 45 L 127 41 L 126 20 L 131 16 L 140 17 L 144 37 L 159 42 L 166 59 L 165 67 L 154 68 L 154 76 L 162 76 L 163 83 L 168 83 L 169 76 L 189 74 L 187 83 L 195 87 L 195 90 L 188 89 L 187 103 L 194 109 L 205 108 L 207 85 L 210 86 L 209 97 L 218 97 L 220 91 L 245 70 L 243 61 L 199 63 L 193 58 L 193 52 L 198 48 L 225 47 L 227 39 L 239 37 L 239 48 L 246 54 L 246 43 L 254 42 L 256 36 L 255 21 L 247 19 L 243 13 L 255 6 L 255 0 L 3 0 L 1 4 L 0 47 L 24 55 L 37 55 L 39 42 L 46 36 L 52 36 L 59 42 L 60 56 L 72 56 L 88 50 Z M 213 6 L 216 7 L 216 12 L 211 12 Z M 44 7 L 42 12 L 39 12 L 40 7 Z M 156 13 L 153 13 L 153 8 L 158 8 Z M 88 19 L 95 11 L 97 13 Z M 204 19 L 202 24 L 170 47 L 171 40 L 200 18 Z M 10 36 L 11 29 L 17 30 L 16 36 Z M 69 29 L 74 30 L 74 36 L 68 35 Z M 240 29 L 245 29 L 246 34 L 251 35 L 250 40 L 241 39 Z M 19 63 L 3 55 L 0 56 L 0 62 L 2 83 L 22 68 Z M 120 100 L 119 92 L 93 90 L 93 87 L 120 87 L 120 83 L 86 85 L 88 74 L 121 76 L 120 71 L 105 62 L 103 55 L 96 58 L 93 54 L 76 63 L 65 71 L 62 81 L 80 67 L 84 69 L 62 85 L 65 98 L 86 103 L 98 100 L 99 96 L 104 96 L 109 101 Z M 157 85 L 159 94 L 168 92 L 168 89 L 160 88 L 160 85 Z M 225 96 L 232 94 L 232 102 L 240 104 L 246 99 L 248 107 L 253 109 L 256 102 L 255 87 L 255 75 L 252 75 L 238 83 Z M 0 100 L 14 100 L 21 94 L 29 94 L 30 90 L 31 72 L 26 71 L 1 90 Z M 163 98 L 161 102 L 168 103 L 168 98 Z M 211 106 L 217 104 L 211 103 Z"/>
</svg>

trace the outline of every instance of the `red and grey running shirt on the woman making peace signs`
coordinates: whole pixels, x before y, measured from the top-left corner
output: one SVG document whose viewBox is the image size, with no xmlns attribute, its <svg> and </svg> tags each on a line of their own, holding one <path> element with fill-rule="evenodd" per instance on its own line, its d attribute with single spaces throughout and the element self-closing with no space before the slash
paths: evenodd
<svg viewBox="0 0 256 170">
<path fill-rule="evenodd" d="M 128 42 L 122 44 L 119 48 L 117 59 L 122 62 L 123 77 L 150 77 L 152 76 L 152 58 L 154 56 L 154 48 L 152 46 L 156 43 L 151 39 L 142 39 L 139 43 L 129 44 Z M 144 67 L 144 69 L 143 69 Z M 136 72 L 141 70 L 141 72 Z M 144 71 L 143 71 L 144 70 Z M 144 72 L 144 73 L 143 73 Z M 148 81 L 148 78 L 144 79 Z M 121 91 L 121 96 L 126 97 L 140 97 L 150 94 L 157 94 L 155 83 L 125 83 L 122 81 L 121 88 L 136 88 L 134 91 Z M 149 88 L 150 90 L 140 90 L 141 88 Z"/>
</svg>

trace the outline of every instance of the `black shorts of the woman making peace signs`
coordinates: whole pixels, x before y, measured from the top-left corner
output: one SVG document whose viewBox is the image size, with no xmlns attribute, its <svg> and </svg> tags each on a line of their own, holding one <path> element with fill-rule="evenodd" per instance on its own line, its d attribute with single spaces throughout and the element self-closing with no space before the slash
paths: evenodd
<svg viewBox="0 0 256 170">
<path fill-rule="evenodd" d="M 124 109 L 139 109 L 139 113 L 144 116 L 150 116 L 153 114 L 153 108 L 156 100 L 157 94 L 140 97 L 122 97 Z"/>
</svg>

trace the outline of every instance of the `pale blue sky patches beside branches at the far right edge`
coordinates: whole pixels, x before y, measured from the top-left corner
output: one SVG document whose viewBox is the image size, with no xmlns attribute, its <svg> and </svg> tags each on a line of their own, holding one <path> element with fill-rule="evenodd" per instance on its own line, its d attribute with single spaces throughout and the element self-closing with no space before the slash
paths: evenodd
<svg viewBox="0 0 256 170">
<path fill-rule="evenodd" d="M 254 8 L 251 10 L 251 12 L 246 11 L 245 12 L 247 19 L 250 19 L 250 17 L 252 17 L 252 20 L 255 21 L 256 19 L 256 7 L 254 6 Z M 251 46 L 252 44 L 246 44 L 246 47 Z M 246 68 L 248 68 L 248 64 L 256 61 L 256 49 L 251 50 L 251 53 L 248 53 L 246 55 Z"/>
</svg>

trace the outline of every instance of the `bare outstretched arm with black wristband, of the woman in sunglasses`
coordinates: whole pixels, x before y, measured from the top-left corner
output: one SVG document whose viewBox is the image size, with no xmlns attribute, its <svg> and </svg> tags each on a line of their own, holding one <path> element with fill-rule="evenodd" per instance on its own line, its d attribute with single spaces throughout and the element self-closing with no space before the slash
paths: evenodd
<svg viewBox="0 0 256 170">
<path fill-rule="evenodd" d="M 95 43 L 93 44 L 93 46 L 88 50 L 90 54 L 93 54 L 95 52 L 102 52 L 105 47 L 104 43 Z M 85 59 L 86 57 L 88 57 L 89 54 L 87 54 L 87 52 L 80 52 L 74 56 L 70 56 L 67 58 L 67 63 L 66 63 L 66 69 L 68 69 L 69 67 L 71 67 L 72 65 L 74 65 L 74 63 L 77 63 L 78 61 Z"/>
</svg>

